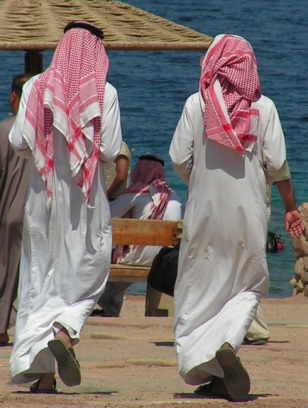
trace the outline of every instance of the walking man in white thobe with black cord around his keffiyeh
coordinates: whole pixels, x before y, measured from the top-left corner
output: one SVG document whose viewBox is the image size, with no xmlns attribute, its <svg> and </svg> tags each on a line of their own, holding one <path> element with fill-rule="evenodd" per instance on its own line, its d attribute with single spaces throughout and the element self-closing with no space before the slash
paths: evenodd
<svg viewBox="0 0 308 408">
<path fill-rule="evenodd" d="M 24 210 L 18 314 L 10 375 L 55 391 L 81 381 L 72 346 L 105 288 L 111 257 L 103 163 L 117 156 L 118 97 L 106 82 L 102 31 L 67 24 L 50 67 L 23 87 L 9 135 L 31 160 Z"/>
</svg>

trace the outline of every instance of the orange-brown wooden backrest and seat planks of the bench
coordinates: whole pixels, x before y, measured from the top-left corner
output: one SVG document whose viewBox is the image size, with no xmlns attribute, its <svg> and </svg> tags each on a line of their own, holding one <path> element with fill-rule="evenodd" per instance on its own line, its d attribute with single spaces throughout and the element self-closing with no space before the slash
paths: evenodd
<svg viewBox="0 0 308 408">
<path fill-rule="evenodd" d="M 114 245 L 173 246 L 180 240 L 182 221 L 112 218 Z M 110 281 L 147 282 L 150 266 L 111 264 Z"/>
</svg>

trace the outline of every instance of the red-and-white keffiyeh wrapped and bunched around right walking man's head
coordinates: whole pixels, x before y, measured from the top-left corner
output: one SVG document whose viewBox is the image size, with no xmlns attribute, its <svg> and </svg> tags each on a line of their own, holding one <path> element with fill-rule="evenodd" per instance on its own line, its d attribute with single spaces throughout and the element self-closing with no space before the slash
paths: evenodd
<svg viewBox="0 0 308 408">
<path fill-rule="evenodd" d="M 199 89 L 206 137 L 240 152 L 251 151 L 259 120 L 251 102 L 260 98 L 261 85 L 250 44 L 230 34 L 217 36 L 203 59 Z"/>
</svg>

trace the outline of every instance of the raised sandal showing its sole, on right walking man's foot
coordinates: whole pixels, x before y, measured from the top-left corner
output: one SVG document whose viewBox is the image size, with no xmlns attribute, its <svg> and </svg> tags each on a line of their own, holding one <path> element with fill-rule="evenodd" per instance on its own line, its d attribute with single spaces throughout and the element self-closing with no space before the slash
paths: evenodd
<svg viewBox="0 0 308 408">
<path fill-rule="evenodd" d="M 247 397 L 250 389 L 250 378 L 229 343 L 224 343 L 220 347 L 216 352 L 216 359 L 222 368 L 228 395 L 233 400 Z"/>
</svg>

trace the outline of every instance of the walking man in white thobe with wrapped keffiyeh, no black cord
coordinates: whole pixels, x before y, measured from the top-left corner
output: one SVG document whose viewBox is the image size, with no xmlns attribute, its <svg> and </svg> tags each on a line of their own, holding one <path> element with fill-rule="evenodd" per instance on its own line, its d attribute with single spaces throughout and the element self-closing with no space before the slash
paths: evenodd
<svg viewBox="0 0 308 408">
<path fill-rule="evenodd" d="M 175 287 L 179 374 L 188 384 L 210 382 L 200 394 L 242 399 L 250 379 L 236 353 L 268 290 L 266 179 L 285 165 L 286 146 L 241 37 L 215 38 L 169 153 L 188 184 Z M 299 235 L 303 223 L 288 210 L 286 229 Z"/>
</svg>

